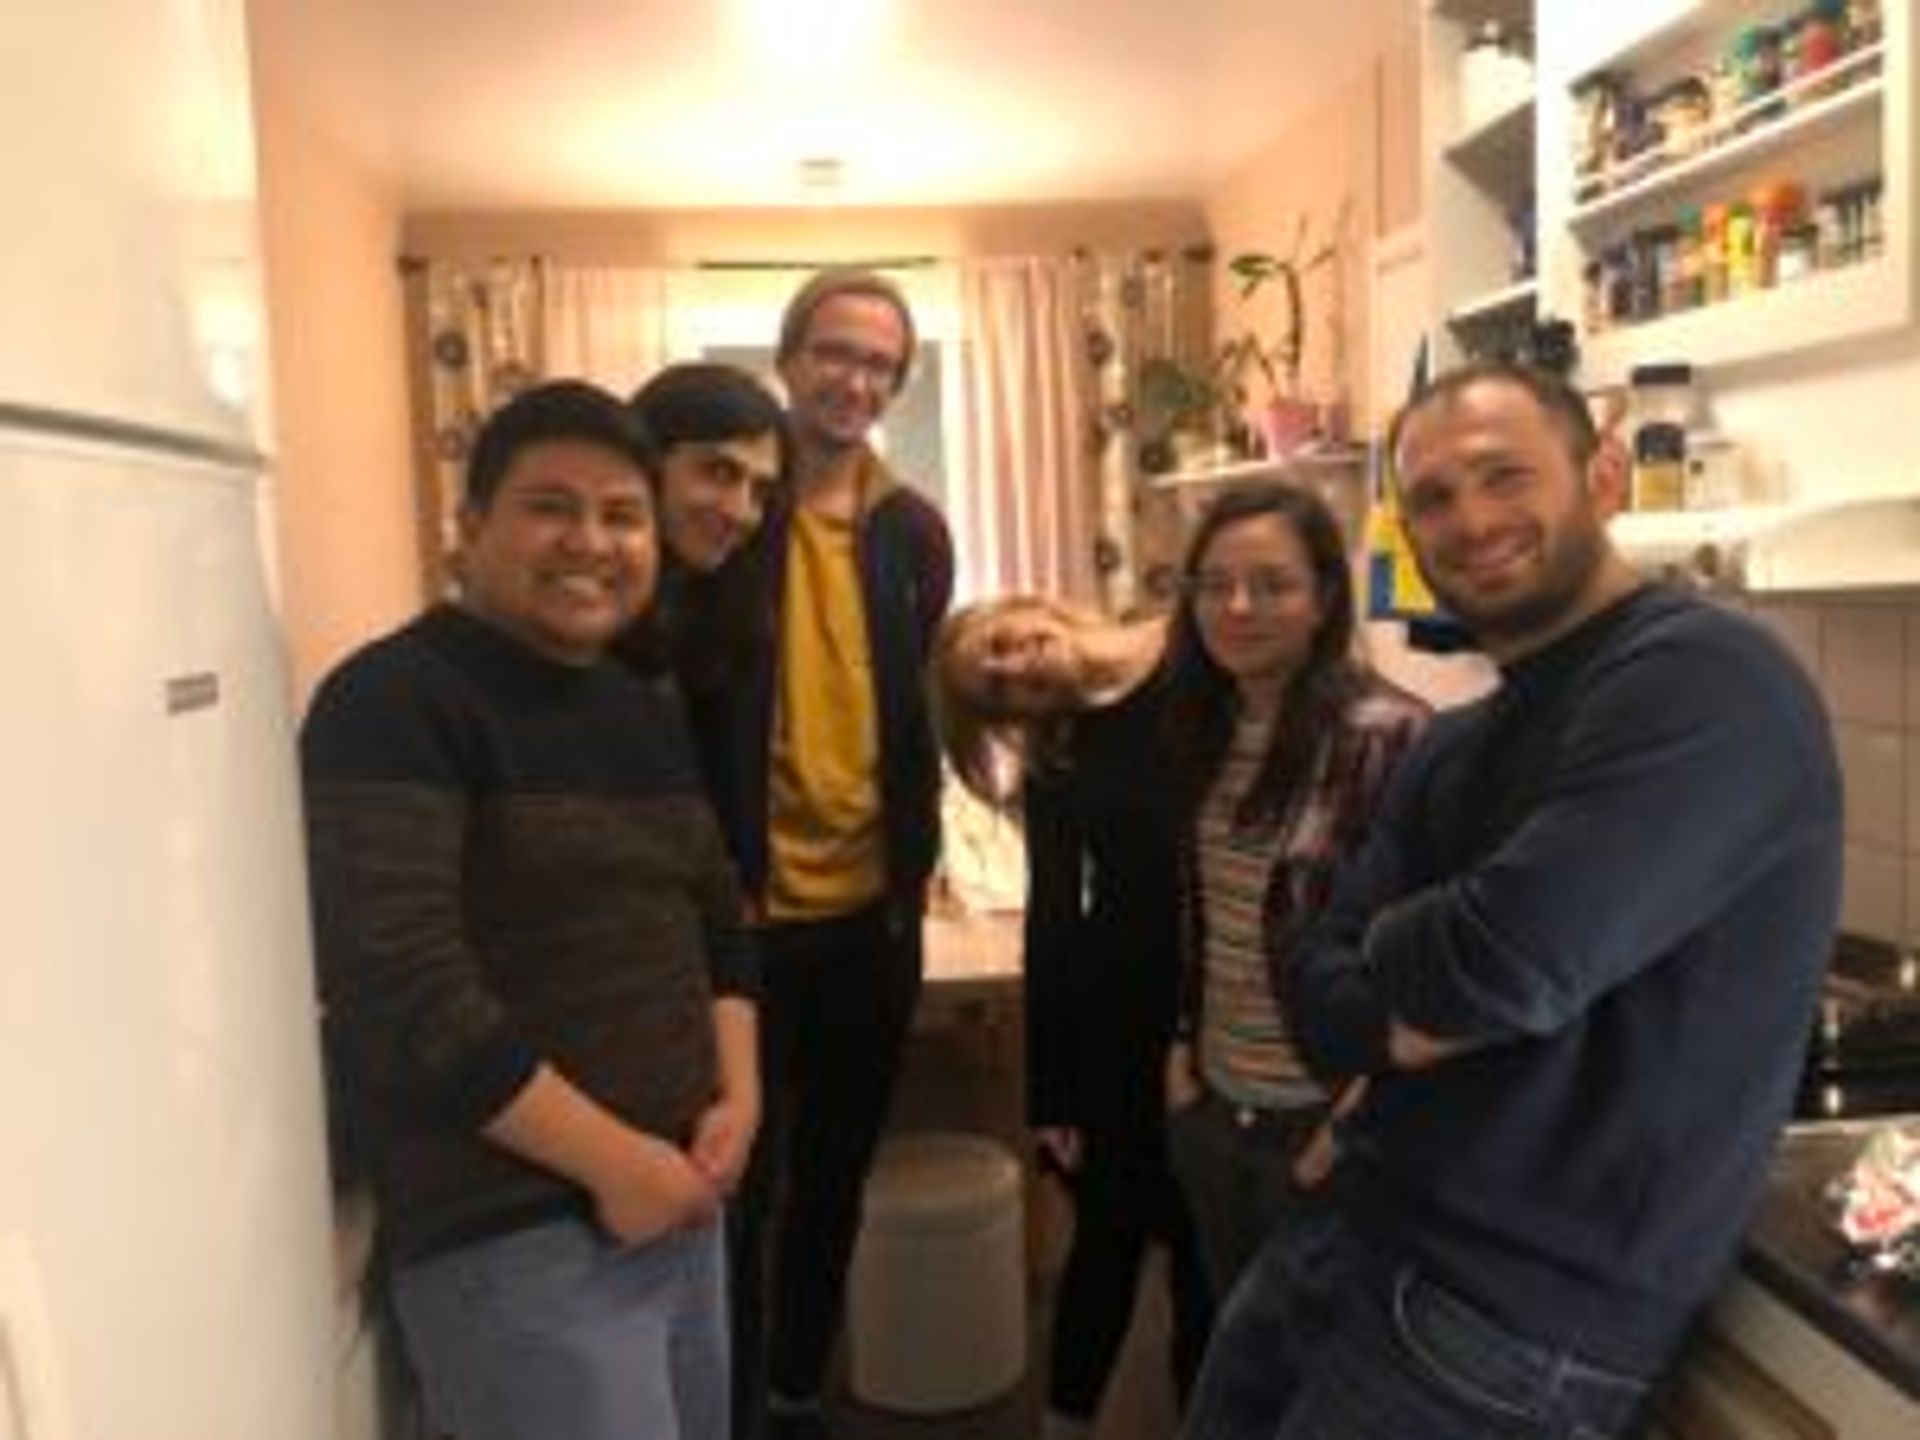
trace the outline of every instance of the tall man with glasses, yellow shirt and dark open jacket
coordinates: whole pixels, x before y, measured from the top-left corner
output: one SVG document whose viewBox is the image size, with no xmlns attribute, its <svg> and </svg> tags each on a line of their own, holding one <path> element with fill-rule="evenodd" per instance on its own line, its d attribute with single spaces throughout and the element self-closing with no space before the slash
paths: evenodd
<svg viewBox="0 0 1920 1440">
<path fill-rule="evenodd" d="M 826 1434 L 860 1190 L 920 995 L 941 783 L 922 670 L 952 543 L 868 442 L 912 357 L 912 311 L 870 271 L 816 273 L 781 319 L 793 493 L 766 520 L 766 643 L 730 707 L 768 1066 L 733 1217 L 739 1440 L 760 1434 L 762 1407 L 781 1440 Z"/>
</svg>

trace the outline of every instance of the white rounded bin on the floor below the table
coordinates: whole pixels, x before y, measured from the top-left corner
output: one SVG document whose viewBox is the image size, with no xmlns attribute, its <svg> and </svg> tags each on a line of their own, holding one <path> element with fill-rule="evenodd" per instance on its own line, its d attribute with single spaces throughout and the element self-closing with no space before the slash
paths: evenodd
<svg viewBox="0 0 1920 1440">
<path fill-rule="evenodd" d="M 973 1135 L 883 1140 L 849 1284 L 856 1400 L 916 1415 L 979 1405 L 1027 1369 L 1020 1162 Z"/>
</svg>

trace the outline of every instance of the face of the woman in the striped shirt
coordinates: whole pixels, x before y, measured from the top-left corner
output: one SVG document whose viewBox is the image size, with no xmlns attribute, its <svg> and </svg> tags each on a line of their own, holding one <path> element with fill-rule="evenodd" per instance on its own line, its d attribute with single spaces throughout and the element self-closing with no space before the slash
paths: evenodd
<svg viewBox="0 0 1920 1440">
<path fill-rule="evenodd" d="M 1271 513 L 1221 526 L 1194 563 L 1188 593 L 1200 645 L 1242 689 L 1292 676 L 1327 618 L 1300 532 Z"/>
</svg>

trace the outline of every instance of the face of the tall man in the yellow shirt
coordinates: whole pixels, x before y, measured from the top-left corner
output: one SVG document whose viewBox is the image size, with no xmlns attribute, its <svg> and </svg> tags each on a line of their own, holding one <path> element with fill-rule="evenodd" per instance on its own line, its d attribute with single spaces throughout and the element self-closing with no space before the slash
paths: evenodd
<svg viewBox="0 0 1920 1440">
<path fill-rule="evenodd" d="M 839 294 L 820 301 L 780 361 L 795 434 L 822 449 L 858 445 L 899 390 L 906 351 L 906 323 L 889 300 Z"/>
</svg>

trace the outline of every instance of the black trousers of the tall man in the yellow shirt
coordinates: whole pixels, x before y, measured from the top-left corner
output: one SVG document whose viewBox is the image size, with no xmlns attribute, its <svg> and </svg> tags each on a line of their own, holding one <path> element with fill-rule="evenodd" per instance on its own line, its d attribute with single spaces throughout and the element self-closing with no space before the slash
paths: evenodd
<svg viewBox="0 0 1920 1440">
<path fill-rule="evenodd" d="M 839 1334 L 860 1190 L 920 998 L 922 916 L 876 904 L 760 931 L 760 1140 L 730 1215 L 733 1434 L 768 1386 L 820 1392 Z"/>
</svg>

